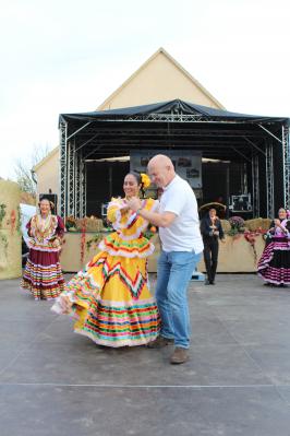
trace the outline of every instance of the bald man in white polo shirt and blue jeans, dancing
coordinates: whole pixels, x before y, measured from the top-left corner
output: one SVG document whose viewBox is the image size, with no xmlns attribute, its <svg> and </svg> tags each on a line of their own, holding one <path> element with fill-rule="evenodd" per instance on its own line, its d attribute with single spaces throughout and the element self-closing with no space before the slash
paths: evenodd
<svg viewBox="0 0 290 436">
<path fill-rule="evenodd" d="M 174 343 L 170 363 L 182 364 L 189 360 L 190 347 L 188 286 L 204 248 L 197 203 L 168 156 L 154 156 L 147 169 L 152 181 L 162 189 L 159 211 L 146 211 L 137 198 L 131 199 L 129 207 L 158 226 L 161 239 L 155 295 L 162 326 L 160 335 L 148 346 L 159 349 Z"/>
</svg>

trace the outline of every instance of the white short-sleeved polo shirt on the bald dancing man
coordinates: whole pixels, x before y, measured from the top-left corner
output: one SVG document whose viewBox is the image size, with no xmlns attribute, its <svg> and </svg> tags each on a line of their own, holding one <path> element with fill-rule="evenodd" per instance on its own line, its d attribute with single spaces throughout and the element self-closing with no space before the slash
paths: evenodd
<svg viewBox="0 0 290 436">
<path fill-rule="evenodd" d="M 159 212 L 172 212 L 177 215 L 169 227 L 159 227 L 164 251 L 203 251 L 197 202 L 186 180 L 176 175 L 164 188 Z"/>
</svg>

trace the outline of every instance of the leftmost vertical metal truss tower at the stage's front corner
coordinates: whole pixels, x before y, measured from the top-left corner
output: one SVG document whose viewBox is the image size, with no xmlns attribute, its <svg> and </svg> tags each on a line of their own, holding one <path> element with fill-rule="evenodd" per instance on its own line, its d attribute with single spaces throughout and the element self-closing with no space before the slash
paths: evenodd
<svg viewBox="0 0 290 436">
<path fill-rule="evenodd" d="M 62 219 L 67 215 L 67 137 L 68 123 L 60 123 L 60 216 Z"/>
</svg>

